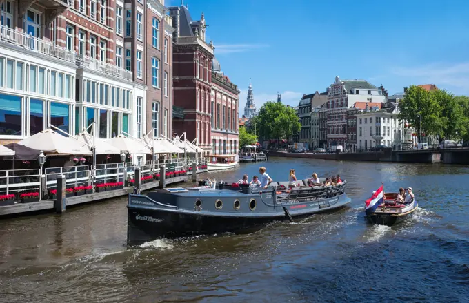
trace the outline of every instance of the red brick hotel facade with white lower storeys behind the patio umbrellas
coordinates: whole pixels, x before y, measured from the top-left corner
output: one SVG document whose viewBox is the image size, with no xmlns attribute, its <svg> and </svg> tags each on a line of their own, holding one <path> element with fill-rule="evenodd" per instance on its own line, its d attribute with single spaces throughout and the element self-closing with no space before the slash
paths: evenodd
<svg viewBox="0 0 469 303">
<path fill-rule="evenodd" d="M 149 130 L 148 10 L 163 29 L 169 17 L 159 1 L 2 1 L 0 139 L 50 127 L 68 134 L 88 129 L 99 138 Z"/>
</svg>

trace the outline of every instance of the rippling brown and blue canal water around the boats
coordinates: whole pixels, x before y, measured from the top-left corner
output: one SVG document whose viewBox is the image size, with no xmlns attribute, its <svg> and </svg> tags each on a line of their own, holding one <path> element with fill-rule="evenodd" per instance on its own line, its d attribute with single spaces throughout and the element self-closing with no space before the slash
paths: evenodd
<svg viewBox="0 0 469 303">
<path fill-rule="evenodd" d="M 207 174 L 274 180 L 340 174 L 350 207 L 246 235 L 126 247 L 126 198 L 0 220 L 0 302 L 469 302 L 469 167 L 270 158 Z M 204 178 L 204 175 L 198 176 Z M 395 227 L 363 200 L 412 187 L 420 209 Z"/>
</svg>

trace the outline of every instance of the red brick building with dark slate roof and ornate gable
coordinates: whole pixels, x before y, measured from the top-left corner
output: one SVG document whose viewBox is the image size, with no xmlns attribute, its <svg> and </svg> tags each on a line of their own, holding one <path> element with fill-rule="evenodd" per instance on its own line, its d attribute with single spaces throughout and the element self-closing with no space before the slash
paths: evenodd
<svg viewBox="0 0 469 303">
<path fill-rule="evenodd" d="M 224 151 L 237 147 L 237 123 L 233 126 L 232 121 L 237 121 L 239 91 L 219 70 L 213 44 L 205 41 L 203 14 L 196 21 L 186 6 L 179 6 L 170 8 L 170 16 L 175 29 L 174 105 L 184 112 L 183 118 L 174 118 L 174 132 L 197 140 L 206 154 L 214 150 L 226 154 Z"/>
</svg>

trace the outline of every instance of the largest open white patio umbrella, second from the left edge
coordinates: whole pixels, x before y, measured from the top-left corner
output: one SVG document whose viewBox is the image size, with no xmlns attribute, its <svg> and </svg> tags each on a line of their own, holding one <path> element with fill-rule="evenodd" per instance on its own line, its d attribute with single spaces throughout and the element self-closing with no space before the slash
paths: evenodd
<svg viewBox="0 0 469 303">
<path fill-rule="evenodd" d="M 62 136 L 52 129 L 44 129 L 34 134 L 18 144 L 26 147 L 41 150 L 44 154 L 62 154 L 62 155 L 91 155 L 87 145 L 80 143 L 72 137 Z"/>
</svg>

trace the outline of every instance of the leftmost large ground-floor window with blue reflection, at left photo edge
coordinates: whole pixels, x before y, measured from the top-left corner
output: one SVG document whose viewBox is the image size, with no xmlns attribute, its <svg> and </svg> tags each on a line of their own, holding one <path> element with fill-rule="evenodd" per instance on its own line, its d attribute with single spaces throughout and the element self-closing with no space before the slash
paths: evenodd
<svg viewBox="0 0 469 303">
<path fill-rule="evenodd" d="M 0 94 L 0 135 L 21 136 L 21 97 Z"/>
</svg>

